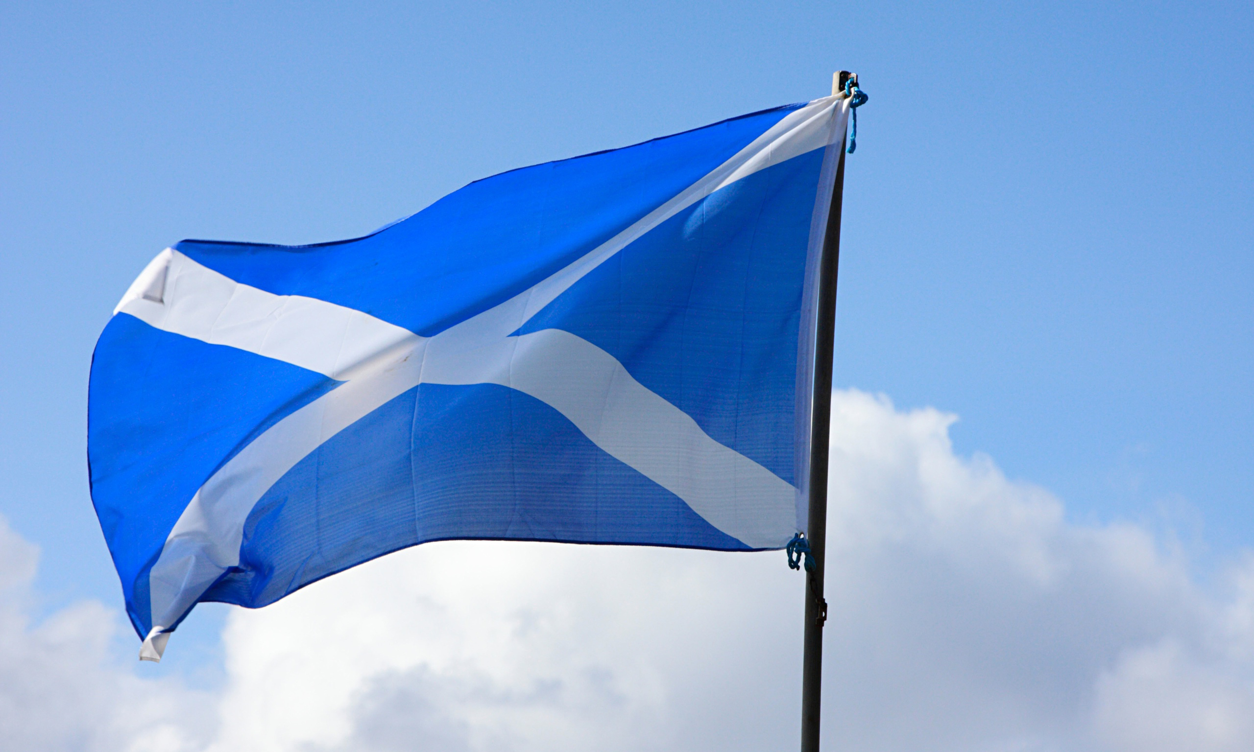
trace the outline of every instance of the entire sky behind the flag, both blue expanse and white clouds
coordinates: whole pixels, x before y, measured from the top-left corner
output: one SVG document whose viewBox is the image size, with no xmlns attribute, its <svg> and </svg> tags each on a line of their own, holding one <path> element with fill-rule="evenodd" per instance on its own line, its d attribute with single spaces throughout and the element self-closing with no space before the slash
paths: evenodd
<svg viewBox="0 0 1254 752">
<path fill-rule="evenodd" d="M 1239 3 L 0 5 L 0 739 L 791 744 L 782 555 L 419 546 L 134 664 L 87 376 L 182 238 L 356 237 L 848 69 L 825 747 L 1250 748 L 1250 39 Z"/>
</svg>

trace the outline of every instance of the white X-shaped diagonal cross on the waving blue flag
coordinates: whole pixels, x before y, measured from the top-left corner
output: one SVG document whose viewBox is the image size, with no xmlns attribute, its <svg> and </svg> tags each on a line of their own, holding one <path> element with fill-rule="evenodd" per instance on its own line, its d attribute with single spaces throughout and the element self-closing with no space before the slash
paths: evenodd
<svg viewBox="0 0 1254 752">
<path fill-rule="evenodd" d="M 552 277 L 426 338 L 361 311 L 241 285 L 167 249 L 118 312 L 206 342 L 346 381 L 288 415 L 197 491 L 150 574 L 153 622 L 177 622 L 238 563 L 243 523 L 283 474 L 327 439 L 419 384 L 499 384 L 558 410 L 611 456 L 662 485 L 751 548 L 793 535 L 796 490 L 726 447 L 591 342 L 558 330 L 510 337 L 574 282 L 668 217 L 754 172 L 834 142 L 846 103 L 815 100 L 725 164 Z M 161 630 L 154 628 L 154 634 Z M 145 640 L 148 653 L 150 635 Z M 153 643 L 155 645 L 155 643 Z"/>
</svg>

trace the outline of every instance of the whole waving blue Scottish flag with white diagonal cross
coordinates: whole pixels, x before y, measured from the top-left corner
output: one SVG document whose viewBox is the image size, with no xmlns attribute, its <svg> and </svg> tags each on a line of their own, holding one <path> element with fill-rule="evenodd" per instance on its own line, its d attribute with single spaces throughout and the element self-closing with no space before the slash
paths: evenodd
<svg viewBox="0 0 1254 752">
<path fill-rule="evenodd" d="M 472 183 L 374 234 L 183 241 L 92 363 L 92 498 L 159 659 L 430 540 L 784 548 L 848 99 Z"/>
</svg>

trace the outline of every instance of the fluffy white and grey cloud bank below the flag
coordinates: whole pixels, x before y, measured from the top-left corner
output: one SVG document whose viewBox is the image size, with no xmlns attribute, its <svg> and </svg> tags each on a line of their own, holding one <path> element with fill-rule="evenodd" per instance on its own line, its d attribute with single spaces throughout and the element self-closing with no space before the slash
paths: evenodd
<svg viewBox="0 0 1254 752">
<path fill-rule="evenodd" d="M 824 747 L 1254 748 L 1254 556 L 1204 587 L 1170 539 L 1068 523 L 956 455 L 953 420 L 835 395 Z M 114 663 L 113 608 L 33 624 L 35 558 L 0 528 L 5 749 L 799 742 L 803 580 L 782 553 L 428 544 L 233 610 L 212 691 Z"/>
</svg>

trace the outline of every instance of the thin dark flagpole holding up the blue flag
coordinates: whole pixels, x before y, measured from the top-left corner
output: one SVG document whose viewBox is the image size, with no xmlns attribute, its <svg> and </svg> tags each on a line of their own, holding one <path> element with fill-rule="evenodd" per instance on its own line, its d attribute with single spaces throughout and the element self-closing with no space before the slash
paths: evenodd
<svg viewBox="0 0 1254 752">
<path fill-rule="evenodd" d="M 848 78 L 840 71 L 838 76 Z M 839 81 L 840 85 L 844 80 Z M 836 271 L 840 266 L 840 201 L 845 184 L 845 149 L 840 147 L 831 208 L 819 259 L 818 326 L 814 346 L 814 396 L 810 420 L 810 518 L 806 538 L 814 569 L 805 574 L 805 653 L 801 673 L 801 752 L 819 752 L 819 713 L 823 698 L 823 564 L 828 545 L 828 441 L 831 429 L 831 361 L 836 335 Z"/>
</svg>

